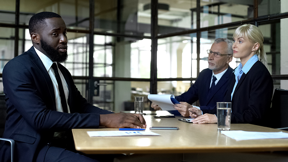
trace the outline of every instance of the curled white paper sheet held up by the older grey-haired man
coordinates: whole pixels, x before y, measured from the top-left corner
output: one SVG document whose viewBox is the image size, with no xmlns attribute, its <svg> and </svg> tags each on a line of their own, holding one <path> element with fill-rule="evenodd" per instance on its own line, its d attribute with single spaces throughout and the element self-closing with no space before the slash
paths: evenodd
<svg viewBox="0 0 288 162">
<path fill-rule="evenodd" d="M 176 110 L 173 108 L 174 104 L 171 101 L 171 97 L 174 98 L 174 95 L 156 95 L 156 94 L 149 94 L 148 99 L 158 106 L 161 107 L 162 110 Z"/>
</svg>

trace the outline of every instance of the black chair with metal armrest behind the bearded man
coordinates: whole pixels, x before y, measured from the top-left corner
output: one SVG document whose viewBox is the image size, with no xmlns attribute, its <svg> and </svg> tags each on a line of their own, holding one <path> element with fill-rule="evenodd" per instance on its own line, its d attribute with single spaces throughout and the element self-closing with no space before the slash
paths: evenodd
<svg viewBox="0 0 288 162">
<path fill-rule="evenodd" d="M 6 103 L 5 103 L 5 95 L 0 94 L 0 137 L 3 136 L 4 127 L 5 127 L 5 120 L 6 120 Z M 0 140 L 8 141 L 11 144 L 11 162 L 14 161 L 14 148 L 15 148 L 15 141 L 7 138 L 0 138 Z"/>
</svg>

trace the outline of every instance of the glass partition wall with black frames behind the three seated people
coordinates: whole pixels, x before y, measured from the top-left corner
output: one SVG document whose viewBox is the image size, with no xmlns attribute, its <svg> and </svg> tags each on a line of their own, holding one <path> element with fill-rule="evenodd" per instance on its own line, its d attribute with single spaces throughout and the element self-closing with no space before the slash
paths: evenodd
<svg viewBox="0 0 288 162">
<path fill-rule="evenodd" d="M 263 32 L 275 88 L 288 89 L 287 8 L 286 0 L 4 1 L 0 81 L 5 64 L 32 46 L 31 16 L 50 11 L 68 28 L 63 65 L 82 95 L 102 109 L 133 110 L 134 96 L 144 96 L 144 110 L 150 110 L 148 94 L 184 93 L 208 67 L 206 50 L 213 41 L 232 40 L 235 29 L 248 23 Z"/>
</svg>

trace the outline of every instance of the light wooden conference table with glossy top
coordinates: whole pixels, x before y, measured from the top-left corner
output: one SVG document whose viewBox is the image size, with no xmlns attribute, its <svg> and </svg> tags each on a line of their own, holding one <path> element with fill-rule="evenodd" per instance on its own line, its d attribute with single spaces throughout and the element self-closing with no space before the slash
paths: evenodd
<svg viewBox="0 0 288 162">
<path fill-rule="evenodd" d="M 133 111 L 132 111 L 133 112 Z M 166 111 L 143 113 L 169 114 Z M 239 153 L 288 151 L 288 139 L 236 141 L 217 130 L 217 124 L 193 124 L 175 118 L 155 118 L 144 115 L 147 128 L 151 126 L 179 127 L 179 130 L 151 130 L 160 136 L 89 137 L 87 131 L 109 131 L 116 128 L 72 129 L 76 150 L 85 154 L 183 154 L 183 153 Z M 231 124 L 231 130 L 279 132 L 281 130 L 252 124 Z M 284 131 L 286 132 L 286 131 Z"/>
</svg>

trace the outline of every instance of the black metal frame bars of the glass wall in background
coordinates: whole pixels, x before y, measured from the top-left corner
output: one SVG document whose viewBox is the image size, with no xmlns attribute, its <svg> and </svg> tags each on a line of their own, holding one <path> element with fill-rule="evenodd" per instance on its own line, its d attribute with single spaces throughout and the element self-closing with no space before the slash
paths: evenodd
<svg viewBox="0 0 288 162">
<path fill-rule="evenodd" d="M 122 4 L 122 0 L 117 0 L 117 4 Z M 143 35 L 128 35 L 128 34 L 122 34 L 122 33 L 104 33 L 104 32 L 95 32 L 94 31 L 94 4 L 95 0 L 89 0 L 89 30 L 78 30 L 78 29 L 68 29 L 68 32 L 79 32 L 79 33 L 87 33 L 89 34 L 89 76 L 73 76 L 73 79 L 85 79 L 89 80 L 89 93 L 88 93 L 88 101 L 92 103 L 92 94 L 93 91 L 91 90 L 93 85 L 93 80 L 100 79 L 100 80 L 113 80 L 113 81 L 143 81 L 143 82 L 150 82 L 150 93 L 151 94 L 157 94 L 157 82 L 158 81 L 192 81 L 196 80 L 196 78 L 157 78 L 157 46 L 158 46 L 158 39 L 161 38 L 167 38 L 172 36 L 178 36 L 178 35 L 185 35 L 185 34 L 191 34 L 196 33 L 197 35 L 197 77 L 200 73 L 199 71 L 199 62 L 200 62 L 200 34 L 203 31 L 211 31 L 215 29 L 221 29 L 221 28 L 227 28 L 227 27 L 233 27 L 238 25 L 243 25 L 247 23 L 251 23 L 254 25 L 258 25 L 258 22 L 269 22 L 271 20 L 276 19 L 285 19 L 288 18 L 288 12 L 286 13 L 279 13 L 279 14 L 273 14 L 273 15 L 266 15 L 266 16 L 258 16 L 258 0 L 254 0 L 254 15 L 253 19 L 247 19 L 243 21 L 238 22 L 231 22 L 221 25 L 214 25 L 209 27 L 200 28 L 200 0 L 197 0 L 197 6 L 196 6 L 196 29 L 189 29 L 181 32 L 173 32 L 173 33 L 167 33 L 167 34 L 161 34 L 159 35 L 158 29 L 158 0 L 151 0 L 151 36 L 143 36 Z M 20 0 L 16 0 L 15 4 L 15 24 L 5 24 L 0 23 L 0 27 L 8 27 L 8 28 L 15 28 L 15 47 L 14 47 L 14 56 L 18 56 L 19 51 L 19 29 L 27 29 L 28 25 L 20 25 L 19 24 L 19 17 L 20 17 Z M 117 8 L 119 13 L 121 12 L 121 7 Z M 150 79 L 143 79 L 143 78 L 121 78 L 121 77 L 93 77 L 93 47 L 94 47 L 94 35 L 107 35 L 107 36 L 114 36 L 116 38 L 137 38 L 137 39 L 151 39 L 151 73 L 150 73 Z M 24 47 L 24 43 L 22 45 L 22 48 Z M 2 77 L 2 74 L 0 74 L 0 77 Z M 272 75 L 274 80 L 288 80 L 288 75 Z"/>
</svg>

